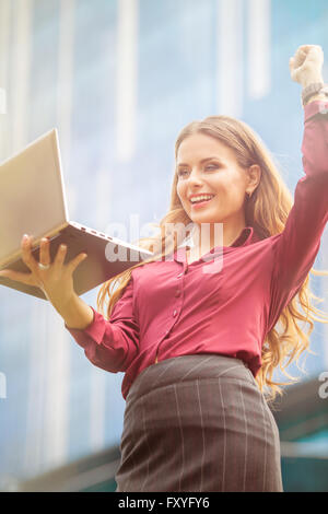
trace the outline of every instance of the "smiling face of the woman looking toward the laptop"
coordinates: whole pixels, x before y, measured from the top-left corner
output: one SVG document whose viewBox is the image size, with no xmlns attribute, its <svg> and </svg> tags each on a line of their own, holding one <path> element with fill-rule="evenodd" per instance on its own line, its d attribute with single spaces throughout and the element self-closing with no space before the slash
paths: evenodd
<svg viewBox="0 0 328 514">
<path fill-rule="evenodd" d="M 203 133 L 188 136 L 179 145 L 176 170 L 177 195 L 192 222 L 224 223 L 236 236 L 245 226 L 245 195 L 254 176 L 242 168 L 229 147 Z M 214 195 L 210 201 L 191 203 L 190 196 Z"/>
</svg>

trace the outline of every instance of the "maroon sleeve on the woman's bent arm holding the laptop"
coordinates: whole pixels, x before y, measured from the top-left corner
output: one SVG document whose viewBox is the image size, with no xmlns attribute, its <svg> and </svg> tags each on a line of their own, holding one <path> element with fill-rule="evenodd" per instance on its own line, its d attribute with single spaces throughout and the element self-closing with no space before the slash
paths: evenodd
<svg viewBox="0 0 328 514">
<path fill-rule="evenodd" d="M 124 372 L 129 367 L 139 349 L 139 324 L 134 315 L 133 278 L 131 277 L 124 294 L 116 302 L 109 320 L 96 312 L 84 329 L 65 328 L 84 349 L 86 358 L 97 367 L 112 373 Z"/>
</svg>

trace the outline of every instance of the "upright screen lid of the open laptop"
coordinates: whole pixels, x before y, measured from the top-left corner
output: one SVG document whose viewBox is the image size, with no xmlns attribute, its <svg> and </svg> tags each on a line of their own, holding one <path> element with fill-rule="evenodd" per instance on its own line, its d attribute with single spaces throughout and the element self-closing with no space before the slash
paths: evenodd
<svg viewBox="0 0 328 514">
<path fill-rule="evenodd" d="M 57 130 L 0 164 L 0 264 L 34 238 L 68 221 Z"/>
</svg>

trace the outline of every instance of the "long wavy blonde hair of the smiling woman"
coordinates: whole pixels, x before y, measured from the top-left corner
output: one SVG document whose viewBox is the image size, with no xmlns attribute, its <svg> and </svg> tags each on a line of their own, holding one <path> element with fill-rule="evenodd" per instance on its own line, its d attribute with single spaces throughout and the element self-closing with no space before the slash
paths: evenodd
<svg viewBox="0 0 328 514">
<path fill-rule="evenodd" d="M 175 143 L 175 161 L 184 139 L 197 132 L 216 138 L 232 149 L 242 168 L 248 168 L 253 164 L 260 166 L 262 172 L 260 183 L 251 198 L 245 200 L 246 225 L 253 226 L 260 238 L 281 233 L 293 206 L 293 197 L 282 180 L 278 171 L 279 165 L 274 162 L 260 137 L 244 121 L 229 116 L 209 116 L 203 120 L 192 121 L 183 128 Z M 175 252 L 184 240 L 185 227 L 192 223 L 177 195 L 177 171 L 175 170 L 168 212 L 160 221 L 160 224 L 152 223 L 160 230 L 160 233 L 134 242 L 140 247 L 153 252 L 152 257 L 136 264 L 102 285 L 97 295 L 97 308 L 107 319 L 109 319 L 114 305 L 128 285 L 132 270 L 140 266 L 147 266 L 147 264 L 159 258 L 164 259 L 165 255 Z M 172 224 L 175 227 L 180 226 L 180 231 L 175 229 L 173 233 L 167 230 Z M 309 273 L 316 276 L 328 274 L 327 271 L 316 271 L 314 268 L 311 269 Z M 314 322 L 328 323 L 327 315 L 311 303 L 312 300 L 319 302 L 323 300 L 311 292 L 309 273 L 298 293 L 282 311 L 277 325 L 267 334 L 265 339 L 261 350 L 262 365 L 256 375 L 256 382 L 259 389 L 267 397 L 267 401 L 273 401 L 278 394 L 282 396 L 283 389 L 280 385 L 298 381 L 298 378 L 286 372 L 286 367 L 295 360 L 297 367 L 301 370 L 298 366 L 301 353 L 305 350 L 314 353 L 309 349 L 309 335 L 314 329 Z M 118 287 L 115 289 L 115 285 Z M 108 296 L 108 302 L 106 302 L 106 296 Z M 104 312 L 105 303 L 107 304 L 107 313 Z M 302 329 L 298 323 L 307 324 L 307 331 Z M 278 326 L 280 326 L 280 330 L 278 330 Z M 289 382 L 274 382 L 272 379 L 277 366 L 290 378 Z M 304 372 L 304 369 L 302 371 Z"/>
</svg>

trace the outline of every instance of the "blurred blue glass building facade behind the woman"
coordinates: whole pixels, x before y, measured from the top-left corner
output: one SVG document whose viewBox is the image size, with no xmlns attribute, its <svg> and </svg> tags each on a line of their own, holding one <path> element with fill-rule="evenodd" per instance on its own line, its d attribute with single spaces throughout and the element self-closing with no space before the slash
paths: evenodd
<svg viewBox="0 0 328 514">
<path fill-rule="evenodd" d="M 303 109 L 289 58 L 303 44 L 328 54 L 327 27 L 325 0 L 0 0 L 0 161 L 57 127 L 70 219 L 124 225 L 114 235 L 133 242 L 131 215 L 145 236 L 168 209 L 179 130 L 226 114 L 294 191 Z M 328 269 L 327 231 L 315 268 Z M 327 297 L 327 278 L 312 289 Z M 0 305 L 0 490 L 114 491 L 122 374 L 93 366 L 48 302 L 2 287 Z M 285 490 L 328 491 L 327 326 L 311 340 L 274 416 Z"/>
</svg>

